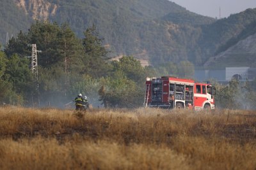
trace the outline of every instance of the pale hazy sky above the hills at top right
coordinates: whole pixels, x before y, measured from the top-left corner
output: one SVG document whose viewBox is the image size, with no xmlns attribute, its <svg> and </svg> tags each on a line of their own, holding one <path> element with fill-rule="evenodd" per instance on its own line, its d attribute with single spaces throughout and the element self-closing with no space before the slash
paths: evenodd
<svg viewBox="0 0 256 170">
<path fill-rule="evenodd" d="M 239 13 L 247 8 L 256 8 L 256 0 L 170 0 L 189 11 L 209 16 L 228 17 L 230 14 Z"/>
</svg>

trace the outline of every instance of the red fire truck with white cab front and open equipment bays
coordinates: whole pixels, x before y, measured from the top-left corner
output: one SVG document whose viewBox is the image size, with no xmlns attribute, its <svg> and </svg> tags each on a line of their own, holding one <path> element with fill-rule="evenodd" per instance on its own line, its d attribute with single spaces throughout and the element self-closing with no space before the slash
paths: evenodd
<svg viewBox="0 0 256 170">
<path fill-rule="evenodd" d="M 145 107 L 188 108 L 193 110 L 214 109 L 215 87 L 196 83 L 191 79 L 162 76 L 147 78 Z"/>
</svg>

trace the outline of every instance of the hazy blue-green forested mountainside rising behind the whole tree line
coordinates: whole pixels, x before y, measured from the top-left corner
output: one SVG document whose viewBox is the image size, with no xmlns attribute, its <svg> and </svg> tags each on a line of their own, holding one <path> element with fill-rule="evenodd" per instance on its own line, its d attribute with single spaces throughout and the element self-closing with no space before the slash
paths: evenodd
<svg viewBox="0 0 256 170">
<path fill-rule="evenodd" d="M 252 35 L 250 25 L 256 20 L 256 9 L 215 20 L 167 0 L 13 0 L 3 4 L 5 9 L 19 7 L 19 20 L 25 22 L 1 23 L 2 43 L 6 32 L 15 35 L 19 29 L 26 31 L 33 19 L 67 22 L 79 38 L 94 24 L 111 51 L 110 57 L 133 55 L 155 66 L 182 60 L 202 66 L 210 57 Z M 3 16 L 6 21 L 15 18 Z M 243 37 L 237 37 L 241 32 Z"/>
</svg>

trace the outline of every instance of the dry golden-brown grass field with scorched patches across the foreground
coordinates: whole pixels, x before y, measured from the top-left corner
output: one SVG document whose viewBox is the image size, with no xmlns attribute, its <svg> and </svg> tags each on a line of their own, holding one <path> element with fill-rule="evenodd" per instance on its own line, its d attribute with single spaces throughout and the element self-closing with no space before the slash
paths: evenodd
<svg viewBox="0 0 256 170">
<path fill-rule="evenodd" d="M 256 169 L 256 113 L 0 108 L 0 169 Z"/>
</svg>

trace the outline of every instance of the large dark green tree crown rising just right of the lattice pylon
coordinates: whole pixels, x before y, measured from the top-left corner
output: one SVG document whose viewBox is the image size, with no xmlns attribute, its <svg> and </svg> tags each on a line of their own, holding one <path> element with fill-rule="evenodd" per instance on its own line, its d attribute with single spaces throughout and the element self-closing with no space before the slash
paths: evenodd
<svg viewBox="0 0 256 170">
<path fill-rule="evenodd" d="M 82 46 L 67 24 L 39 22 L 31 25 L 28 32 L 30 43 L 42 50 L 38 64 L 42 67 L 62 66 L 63 71 L 77 71 L 81 62 Z M 78 70 L 80 71 L 80 70 Z"/>
</svg>

